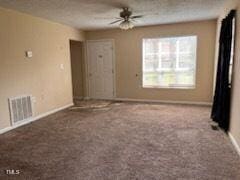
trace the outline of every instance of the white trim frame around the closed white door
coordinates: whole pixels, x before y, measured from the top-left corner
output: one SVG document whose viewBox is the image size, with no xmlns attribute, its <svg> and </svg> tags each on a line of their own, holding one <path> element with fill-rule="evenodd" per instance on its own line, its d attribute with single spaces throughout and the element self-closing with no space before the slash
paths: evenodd
<svg viewBox="0 0 240 180">
<path fill-rule="evenodd" d="M 112 58 L 112 64 L 113 64 L 113 97 L 111 99 L 115 99 L 116 98 L 116 56 L 115 56 L 115 40 L 114 39 L 96 39 L 96 40 L 87 40 L 86 41 L 86 82 L 87 82 L 87 97 L 89 99 L 92 99 L 91 97 L 91 87 L 90 87 L 90 80 L 89 80 L 89 43 L 90 42 L 106 42 L 109 41 L 112 43 L 113 46 L 113 58 Z M 103 98 L 104 99 L 104 98 Z"/>
</svg>

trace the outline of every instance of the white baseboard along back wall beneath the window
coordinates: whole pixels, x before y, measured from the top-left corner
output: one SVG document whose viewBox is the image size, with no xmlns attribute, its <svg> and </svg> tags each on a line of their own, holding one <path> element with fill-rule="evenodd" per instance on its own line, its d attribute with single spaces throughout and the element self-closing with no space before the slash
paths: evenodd
<svg viewBox="0 0 240 180">
<path fill-rule="evenodd" d="M 150 102 L 150 103 L 165 103 L 165 104 L 189 104 L 189 105 L 212 106 L 211 102 L 195 102 L 195 101 L 168 101 L 168 100 L 131 99 L 131 98 L 115 98 L 113 100 L 130 101 L 130 102 Z"/>
</svg>

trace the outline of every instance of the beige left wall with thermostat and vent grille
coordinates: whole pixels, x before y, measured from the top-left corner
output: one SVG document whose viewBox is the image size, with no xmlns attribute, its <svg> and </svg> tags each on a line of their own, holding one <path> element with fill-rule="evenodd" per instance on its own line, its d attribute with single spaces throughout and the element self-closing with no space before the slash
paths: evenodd
<svg viewBox="0 0 240 180">
<path fill-rule="evenodd" d="M 72 103 L 69 39 L 84 33 L 0 8 L 0 129 L 10 126 L 9 97 L 33 95 L 35 115 Z"/>
</svg>

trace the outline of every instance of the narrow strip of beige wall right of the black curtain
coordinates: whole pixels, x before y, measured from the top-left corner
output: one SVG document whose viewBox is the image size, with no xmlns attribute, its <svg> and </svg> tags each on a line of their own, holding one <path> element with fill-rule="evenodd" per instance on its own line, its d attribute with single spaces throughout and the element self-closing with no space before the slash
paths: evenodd
<svg viewBox="0 0 240 180">
<path fill-rule="evenodd" d="M 230 133 L 240 147 L 240 2 L 238 3 L 236 21 L 236 48 L 233 71 Z"/>
</svg>

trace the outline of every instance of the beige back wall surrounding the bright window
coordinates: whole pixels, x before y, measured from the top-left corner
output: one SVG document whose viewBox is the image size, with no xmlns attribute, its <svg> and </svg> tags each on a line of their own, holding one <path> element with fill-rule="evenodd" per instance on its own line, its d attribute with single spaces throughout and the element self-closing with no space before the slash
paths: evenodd
<svg viewBox="0 0 240 180">
<path fill-rule="evenodd" d="M 118 98 L 211 102 L 216 42 L 216 20 L 86 33 L 88 40 L 114 39 Z M 141 87 L 142 39 L 197 35 L 197 83 L 194 90 Z M 136 77 L 136 74 L 140 76 Z"/>
</svg>

